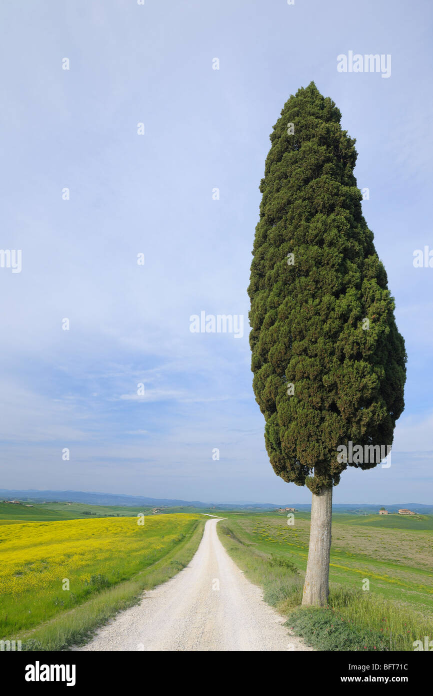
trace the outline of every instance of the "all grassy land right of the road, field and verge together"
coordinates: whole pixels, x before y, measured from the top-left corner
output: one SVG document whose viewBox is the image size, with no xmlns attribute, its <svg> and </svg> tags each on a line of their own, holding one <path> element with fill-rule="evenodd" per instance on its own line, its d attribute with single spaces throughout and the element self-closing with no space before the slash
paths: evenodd
<svg viewBox="0 0 433 696">
<path fill-rule="evenodd" d="M 218 533 L 227 551 L 316 649 L 410 650 L 433 635 L 433 516 L 334 513 L 325 610 L 300 609 L 309 514 L 296 513 L 294 526 L 282 513 L 226 518 Z"/>
</svg>

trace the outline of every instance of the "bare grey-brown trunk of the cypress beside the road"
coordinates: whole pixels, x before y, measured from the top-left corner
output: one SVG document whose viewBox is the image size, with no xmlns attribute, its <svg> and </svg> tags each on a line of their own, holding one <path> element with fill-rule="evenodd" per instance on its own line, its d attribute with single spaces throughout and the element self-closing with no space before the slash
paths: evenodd
<svg viewBox="0 0 433 696">
<path fill-rule="evenodd" d="M 322 488 L 311 499 L 310 545 L 302 606 L 324 606 L 329 594 L 332 488 Z"/>
</svg>

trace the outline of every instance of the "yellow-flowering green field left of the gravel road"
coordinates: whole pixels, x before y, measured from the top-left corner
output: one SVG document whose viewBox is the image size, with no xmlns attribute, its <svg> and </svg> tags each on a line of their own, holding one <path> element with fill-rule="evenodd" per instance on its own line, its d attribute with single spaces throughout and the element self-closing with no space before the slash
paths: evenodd
<svg viewBox="0 0 433 696">
<path fill-rule="evenodd" d="M 196 514 L 0 526 L 0 637 L 131 578 L 168 553 Z"/>
</svg>

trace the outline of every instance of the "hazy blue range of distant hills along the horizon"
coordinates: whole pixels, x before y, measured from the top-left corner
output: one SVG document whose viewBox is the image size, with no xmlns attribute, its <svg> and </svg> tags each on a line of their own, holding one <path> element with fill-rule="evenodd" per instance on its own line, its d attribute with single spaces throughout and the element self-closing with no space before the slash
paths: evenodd
<svg viewBox="0 0 433 696">
<path fill-rule="evenodd" d="M 146 498 L 145 496 L 124 496 L 115 493 L 84 493 L 83 491 L 37 491 L 31 489 L 28 491 L 17 491 L 0 489 L 0 500 L 25 500 L 28 503 L 32 501 L 41 502 L 46 500 L 47 503 L 58 501 L 68 503 L 87 503 L 88 505 L 120 505 L 124 507 L 140 505 L 164 505 L 165 507 L 218 507 L 218 509 L 275 509 L 277 507 L 295 507 L 297 510 L 309 512 L 311 505 L 307 503 L 293 503 L 293 500 L 288 503 L 202 503 L 200 500 L 177 500 L 175 498 Z M 398 512 L 402 507 L 405 507 L 419 514 L 433 514 L 433 505 L 423 505 L 421 503 L 395 503 L 393 505 L 383 505 L 377 503 L 334 503 L 332 506 L 335 512 L 347 512 L 350 514 L 375 514 L 379 511 L 379 507 L 386 507 L 389 512 Z"/>
</svg>

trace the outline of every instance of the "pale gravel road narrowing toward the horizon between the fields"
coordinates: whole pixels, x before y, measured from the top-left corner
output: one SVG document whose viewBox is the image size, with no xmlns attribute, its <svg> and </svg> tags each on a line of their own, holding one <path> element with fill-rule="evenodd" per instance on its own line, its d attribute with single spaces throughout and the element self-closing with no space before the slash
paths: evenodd
<svg viewBox="0 0 433 696">
<path fill-rule="evenodd" d="M 188 567 L 146 592 L 81 650 L 309 650 L 231 560 L 217 523 L 206 522 Z"/>
</svg>

